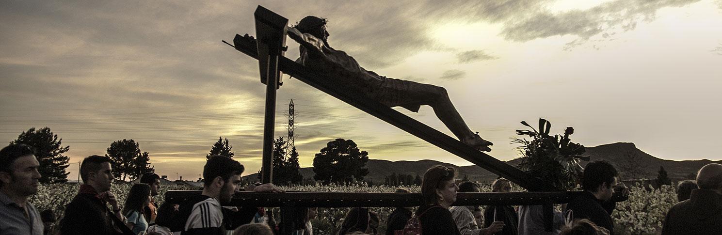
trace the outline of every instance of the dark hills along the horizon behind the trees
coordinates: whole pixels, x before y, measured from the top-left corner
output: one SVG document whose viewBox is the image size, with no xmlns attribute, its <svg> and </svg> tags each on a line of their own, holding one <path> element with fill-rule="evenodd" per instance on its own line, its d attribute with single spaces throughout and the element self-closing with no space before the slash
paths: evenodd
<svg viewBox="0 0 722 235">
<path fill-rule="evenodd" d="M 591 156 L 591 161 L 594 161 L 596 159 L 605 159 L 606 161 L 611 162 L 615 166 L 624 164 L 625 156 L 627 156 L 627 154 L 637 154 L 640 160 L 643 162 L 642 165 L 645 166 L 645 172 L 648 173 L 646 177 L 652 178 L 656 177 L 659 166 L 663 166 L 664 169 L 669 172 L 670 178 L 681 179 L 687 177 L 687 175 L 690 173 L 697 172 L 697 170 L 700 169 L 700 167 L 703 167 L 705 164 L 722 164 L 722 161 L 710 161 L 708 159 L 689 161 L 659 159 L 655 156 L 651 156 L 645 153 L 644 151 L 641 151 L 639 148 L 637 148 L 637 146 L 635 146 L 634 143 L 609 143 L 596 147 L 587 147 L 586 151 L 587 154 Z M 518 163 L 518 159 L 508 161 L 508 163 L 516 165 Z M 585 166 L 586 163 L 586 161 L 583 161 L 581 165 Z M 481 167 L 458 167 L 453 164 L 443 163 L 430 159 L 423 159 L 419 161 L 388 161 L 380 159 L 370 159 L 366 164 L 366 167 L 369 170 L 369 174 L 364 179 L 371 180 L 375 183 L 383 183 L 384 177 L 393 172 L 396 172 L 396 174 L 412 174 L 414 176 L 416 174 L 419 174 L 420 176 L 423 176 L 424 172 L 426 172 L 426 169 L 429 169 L 434 165 L 455 167 L 456 169 L 458 169 L 459 177 L 464 177 L 464 175 L 467 175 L 470 179 L 479 182 L 492 182 L 497 177 L 495 174 L 492 174 L 491 172 L 482 169 Z M 304 178 L 313 178 L 312 167 L 301 168 L 300 173 L 303 175 Z M 256 174 L 251 174 L 245 176 L 244 178 L 256 179 Z"/>
</svg>

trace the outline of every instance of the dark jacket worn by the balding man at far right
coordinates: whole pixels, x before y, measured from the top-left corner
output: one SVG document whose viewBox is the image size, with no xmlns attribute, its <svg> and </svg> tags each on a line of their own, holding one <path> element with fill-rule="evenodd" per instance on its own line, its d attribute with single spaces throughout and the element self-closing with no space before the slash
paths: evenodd
<svg viewBox="0 0 722 235">
<path fill-rule="evenodd" d="M 664 219 L 662 235 L 722 234 L 722 195 L 692 190 L 690 199 L 672 206 Z"/>
</svg>

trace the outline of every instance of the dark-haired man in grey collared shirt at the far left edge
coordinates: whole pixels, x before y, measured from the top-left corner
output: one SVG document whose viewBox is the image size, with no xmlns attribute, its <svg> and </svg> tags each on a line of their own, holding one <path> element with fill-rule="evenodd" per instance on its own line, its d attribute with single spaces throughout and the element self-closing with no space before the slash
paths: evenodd
<svg viewBox="0 0 722 235">
<path fill-rule="evenodd" d="M 0 234 L 43 234 L 43 221 L 27 201 L 38 192 L 40 172 L 35 151 L 25 144 L 0 150 Z"/>
</svg>

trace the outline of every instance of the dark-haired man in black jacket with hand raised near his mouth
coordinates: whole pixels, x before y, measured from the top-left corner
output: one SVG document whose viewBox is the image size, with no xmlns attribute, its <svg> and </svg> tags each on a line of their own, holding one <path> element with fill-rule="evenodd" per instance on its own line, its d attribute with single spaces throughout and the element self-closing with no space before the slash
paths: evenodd
<svg viewBox="0 0 722 235">
<path fill-rule="evenodd" d="M 107 156 L 88 156 L 80 165 L 78 195 L 66 205 L 60 234 L 123 234 L 130 231 L 123 223 L 116 196 L 110 192 L 113 167 Z M 113 208 L 111 212 L 108 205 Z"/>
</svg>

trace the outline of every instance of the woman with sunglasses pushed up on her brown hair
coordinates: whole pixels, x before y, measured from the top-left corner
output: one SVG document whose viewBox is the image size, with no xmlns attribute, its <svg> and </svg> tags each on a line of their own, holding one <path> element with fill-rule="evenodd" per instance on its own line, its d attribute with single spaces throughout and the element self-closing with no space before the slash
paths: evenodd
<svg viewBox="0 0 722 235">
<path fill-rule="evenodd" d="M 421 183 L 424 205 L 416 212 L 422 234 L 460 234 L 449 212 L 451 204 L 456 202 L 456 191 L 458 191 L 455 177 L 455 169 L 443 166 L 431 167 L 424 174 Z"/>
</svg>

